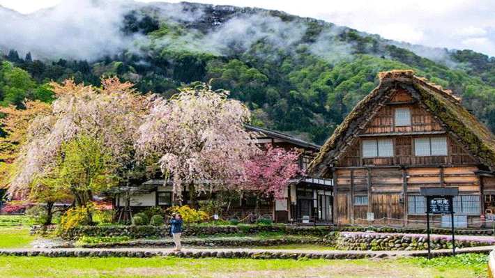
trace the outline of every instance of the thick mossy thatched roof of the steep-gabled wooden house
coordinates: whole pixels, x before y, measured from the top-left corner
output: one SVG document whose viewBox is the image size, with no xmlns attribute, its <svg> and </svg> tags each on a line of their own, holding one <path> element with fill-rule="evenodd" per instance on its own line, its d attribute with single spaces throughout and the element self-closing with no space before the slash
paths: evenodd
<svg viewBox="0 0 495 278">
<path fill-rule="evenodd" d="M 478 157 L 491 171 L 495 171 L 495 136 L 485 125 L 460 104 L 460 99 L 451 91 L 414 76 L 412 70 L 393 70 L 379 74 L 380 84 L 361 100 L 351 113 L 333 132 L 311 162 L 308 173 L 311 176 L 326 176 L 341 153 L 355 141 L 360 132 L 379 107 L 390 98 L 394 88 L 401 88 L 418 100 L 423 109 L 441 122 L 459 144 L 471 155 Z"/>
</svg>

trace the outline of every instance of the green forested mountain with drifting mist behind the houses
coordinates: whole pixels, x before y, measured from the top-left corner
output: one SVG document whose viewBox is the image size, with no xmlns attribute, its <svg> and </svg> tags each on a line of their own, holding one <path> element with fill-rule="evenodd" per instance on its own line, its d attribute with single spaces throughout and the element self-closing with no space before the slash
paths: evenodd
<svg viewBox="0 0 495 278">
<path fill-rule="evenodd" d="M 17 40 L 18 30 L 0 26 L 1 33 L 11 35 L 0 38 L 1 105 L 22 106 L 24 98 L 49 102 L 45 84 L 67 78 L 98 84 L 102 75 L 117 75 L 142 93 L 167 96 L 185 84 L 211 82 L 245 102 L 255 125 L 321 144 L 378 84 L 378 72 L 413 69 L 461 96 L 495 130 L 495 59 L 484 54 L 422 47 L 428 55 L 420 56 L 413 52 L 418 46 L 276 10 L 111 3 L 88 1 L 83 7 L 91 19 L 113 9 L 109 20 L 98 23 L 107 33 L 98 36 L 93 33 L 100 29 L 87 31 L 72 22 L 64 23 L 70 32 L 50 37 L 53 31 L 47 31 L 47 37 L 36 38 L 21 32 Z M 57 22 L 54 15 L 67 6 L 26 16 L 0 7 L 0 20 L 16 26 Z"/>
</svg>

